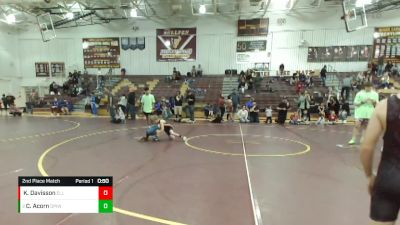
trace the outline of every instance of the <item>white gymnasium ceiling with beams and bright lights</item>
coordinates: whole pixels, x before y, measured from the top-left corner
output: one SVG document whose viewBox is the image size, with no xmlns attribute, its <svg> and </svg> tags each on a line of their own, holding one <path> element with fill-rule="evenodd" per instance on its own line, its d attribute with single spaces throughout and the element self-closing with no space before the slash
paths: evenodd
<svg viewBox="0 0 400 225">
<path fill-rule="evenodd" d="M 366 10 L 371 13 L 400 8 L 400 0 L 350 1 L 369 1 L 372 4 Z M 48 14 L 43 18 L 49 21 L 51 17 L 56 29 L 132 19 L 168 24 L 199 16 L 257 18 L 341 4 L 342 0 L 0 0 L 0 21 L 27 26 L 37 24 L 37 16 Z M 200 13 L 201 7 L 205 12 Z"/>
</svg>

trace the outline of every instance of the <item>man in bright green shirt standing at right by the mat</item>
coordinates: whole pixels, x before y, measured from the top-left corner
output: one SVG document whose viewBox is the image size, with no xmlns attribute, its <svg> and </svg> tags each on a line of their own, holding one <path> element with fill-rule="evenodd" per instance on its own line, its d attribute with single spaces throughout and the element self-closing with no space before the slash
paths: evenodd
<svg viewBox="0 0 400 225">
<path fill-rule="evenodd" d="M 379 101 L 379 95 L 372 90 L 372 84 L 366 83 L 364 89 L 359 91 L 354 98 L 354 119 L 355 127 L 353 129 L 353 136 L 349 141 L 349 145 L 356 143 L 356 138 L 361 134 L 362 130 L 368 125 L 368 121 L 374 113 L 376 103 Z M 360 142 L 363 138 L 361 137 Z"/>
</svg>

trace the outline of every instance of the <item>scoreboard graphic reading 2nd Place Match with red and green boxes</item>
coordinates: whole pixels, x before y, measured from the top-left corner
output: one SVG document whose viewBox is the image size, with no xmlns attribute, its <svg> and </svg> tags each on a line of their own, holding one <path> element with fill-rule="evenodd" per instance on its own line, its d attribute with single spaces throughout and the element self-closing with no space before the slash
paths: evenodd
<svg viewBox="0 0 400 225">
<path fill-rule="evenodd" d="M 112 177 L 18 177 L 19 213 L 112 213 Z"/>
</svg>

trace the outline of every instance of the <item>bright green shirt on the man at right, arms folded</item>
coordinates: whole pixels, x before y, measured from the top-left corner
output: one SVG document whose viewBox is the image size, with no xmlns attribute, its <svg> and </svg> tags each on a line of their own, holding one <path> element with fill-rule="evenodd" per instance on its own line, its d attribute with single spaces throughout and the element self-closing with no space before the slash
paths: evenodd
<svg viewBox="0 0 400 225">
<path fill-rule="evenodd" d="M 354 110 L 354 117 L 356 119 L 370 119 L 372 114 L 374 113 L 375 106 L 366 101 L 368 99 L 376 101 L 378 103 L 379 101 L 379 95 L 375 91 L 370 91 L 366 92 L 365 90 L 361 90 L 357 93 L 356 97 L 354 98 L 354 105 L 355 110 Z"/>
</svg>

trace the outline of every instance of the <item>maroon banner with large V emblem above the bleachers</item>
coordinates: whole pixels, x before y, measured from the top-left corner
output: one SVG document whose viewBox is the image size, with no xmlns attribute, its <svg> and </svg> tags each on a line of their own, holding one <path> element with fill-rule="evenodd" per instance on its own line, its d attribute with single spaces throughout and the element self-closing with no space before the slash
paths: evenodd
<svg viewBox="0 0 400 225">
<path fill-rule="evenodd" d="M 157 29 L 157 61 L 196 60 L 196 28 Z"/>
</svg>

